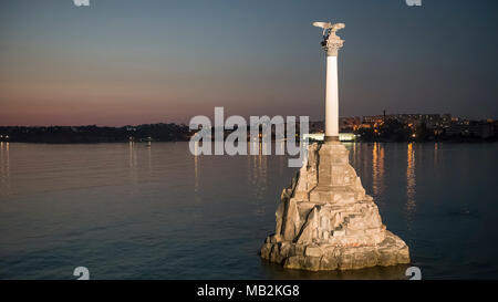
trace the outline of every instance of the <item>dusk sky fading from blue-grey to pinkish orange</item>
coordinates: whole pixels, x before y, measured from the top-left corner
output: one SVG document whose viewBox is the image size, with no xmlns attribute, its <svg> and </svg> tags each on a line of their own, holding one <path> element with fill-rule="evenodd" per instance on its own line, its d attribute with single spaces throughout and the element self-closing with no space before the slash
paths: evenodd
<svg viewBox="0 0 498 302">
<path fill-rule="evenodd" d="M 0 125 L 324 119 L 313 21 L 343 22 L 341 116 L 498 118 L 498 1 L 4 0 Z"/>
</svg>

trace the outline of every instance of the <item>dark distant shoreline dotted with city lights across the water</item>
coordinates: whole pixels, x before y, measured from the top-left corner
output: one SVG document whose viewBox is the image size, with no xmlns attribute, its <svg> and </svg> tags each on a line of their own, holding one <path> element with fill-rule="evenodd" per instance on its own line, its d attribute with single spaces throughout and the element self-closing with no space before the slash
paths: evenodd
<svg viewBox="0 0 498 302">
<path fill-rule="evenodd" d="M 497 124 L 477 123 L 473 126 L 453 126 L 433 129 L 425 124 L 416 127 L 387 119 L 372 127 L 341 127 L 342 133 L 353 133 L 356 142 L 447 142 L 447 143 L 492 143 L 498 142 Z M 470 129 L 470 131 L 469 131 Z M 474 129 L 474 131 L 473 131 Z M 479 131 L 476 131 L 479 129 Z M 486 129 L 486 135 L 483 135 Z M 188 142 L 197 131 L 185 124 L 143 124 L 137 126 L 0 126 L 1 142 L 42 144 L 93 144 L 126 142 Z M 231 131 L 225 131 L 225 136 Z M 299 127 L 298 127 L 299 133 Z M 323 122 L 311 122 L 310 133 L 323 133 Z M 249 139 L 249 131 L 248 131 Z M 298 139 L 299 140 L 299 139 Z"/>
</svg>

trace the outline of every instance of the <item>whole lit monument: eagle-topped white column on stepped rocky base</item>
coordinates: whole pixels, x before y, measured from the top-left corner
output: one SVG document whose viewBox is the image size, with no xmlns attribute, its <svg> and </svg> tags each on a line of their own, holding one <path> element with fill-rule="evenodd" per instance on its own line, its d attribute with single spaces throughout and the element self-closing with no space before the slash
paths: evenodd
<svg viewBox="0 0 498 302">
<path fill-rule="evenodd" d="M 373 198 L 349 164 L 339 142 L 338 52 L 343 23 L 315 22 L 326 52 L 325 138 L 312 144 L 308 160 L 283 189 L 261 257 L 289 269 L 349 270 L 409 263 L 406 243 L 386 230 Z"/>
</svg>

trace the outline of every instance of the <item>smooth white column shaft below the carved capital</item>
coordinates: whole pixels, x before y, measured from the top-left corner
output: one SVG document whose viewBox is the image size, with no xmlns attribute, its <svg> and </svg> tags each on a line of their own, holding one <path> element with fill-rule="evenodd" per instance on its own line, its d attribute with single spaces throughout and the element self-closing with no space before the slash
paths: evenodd
<svg viewBox="0 0 498 302">
<path fill-rule="evenodd" d="M 326 56 L 325 137 L 339 137 L 338 56 Z"/>
</svg>

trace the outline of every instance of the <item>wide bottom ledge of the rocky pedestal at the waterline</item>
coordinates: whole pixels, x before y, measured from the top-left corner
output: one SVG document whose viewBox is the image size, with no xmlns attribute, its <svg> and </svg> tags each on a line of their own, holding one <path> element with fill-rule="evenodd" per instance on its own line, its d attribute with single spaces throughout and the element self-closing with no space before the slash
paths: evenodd
<svg viewBox="0 0 498 302">
<path fill-rule="evenodd" d="M 261 257 L 280 263 L 286 269 L 308 271 L 356 270 L 375 265 L 409 263 L 409 251 L 400 237 L 386 231 L 377 246 L 339 247 L 330 244 L 271 243 L 271 237 L 261 248 Z"/>
</svg>

